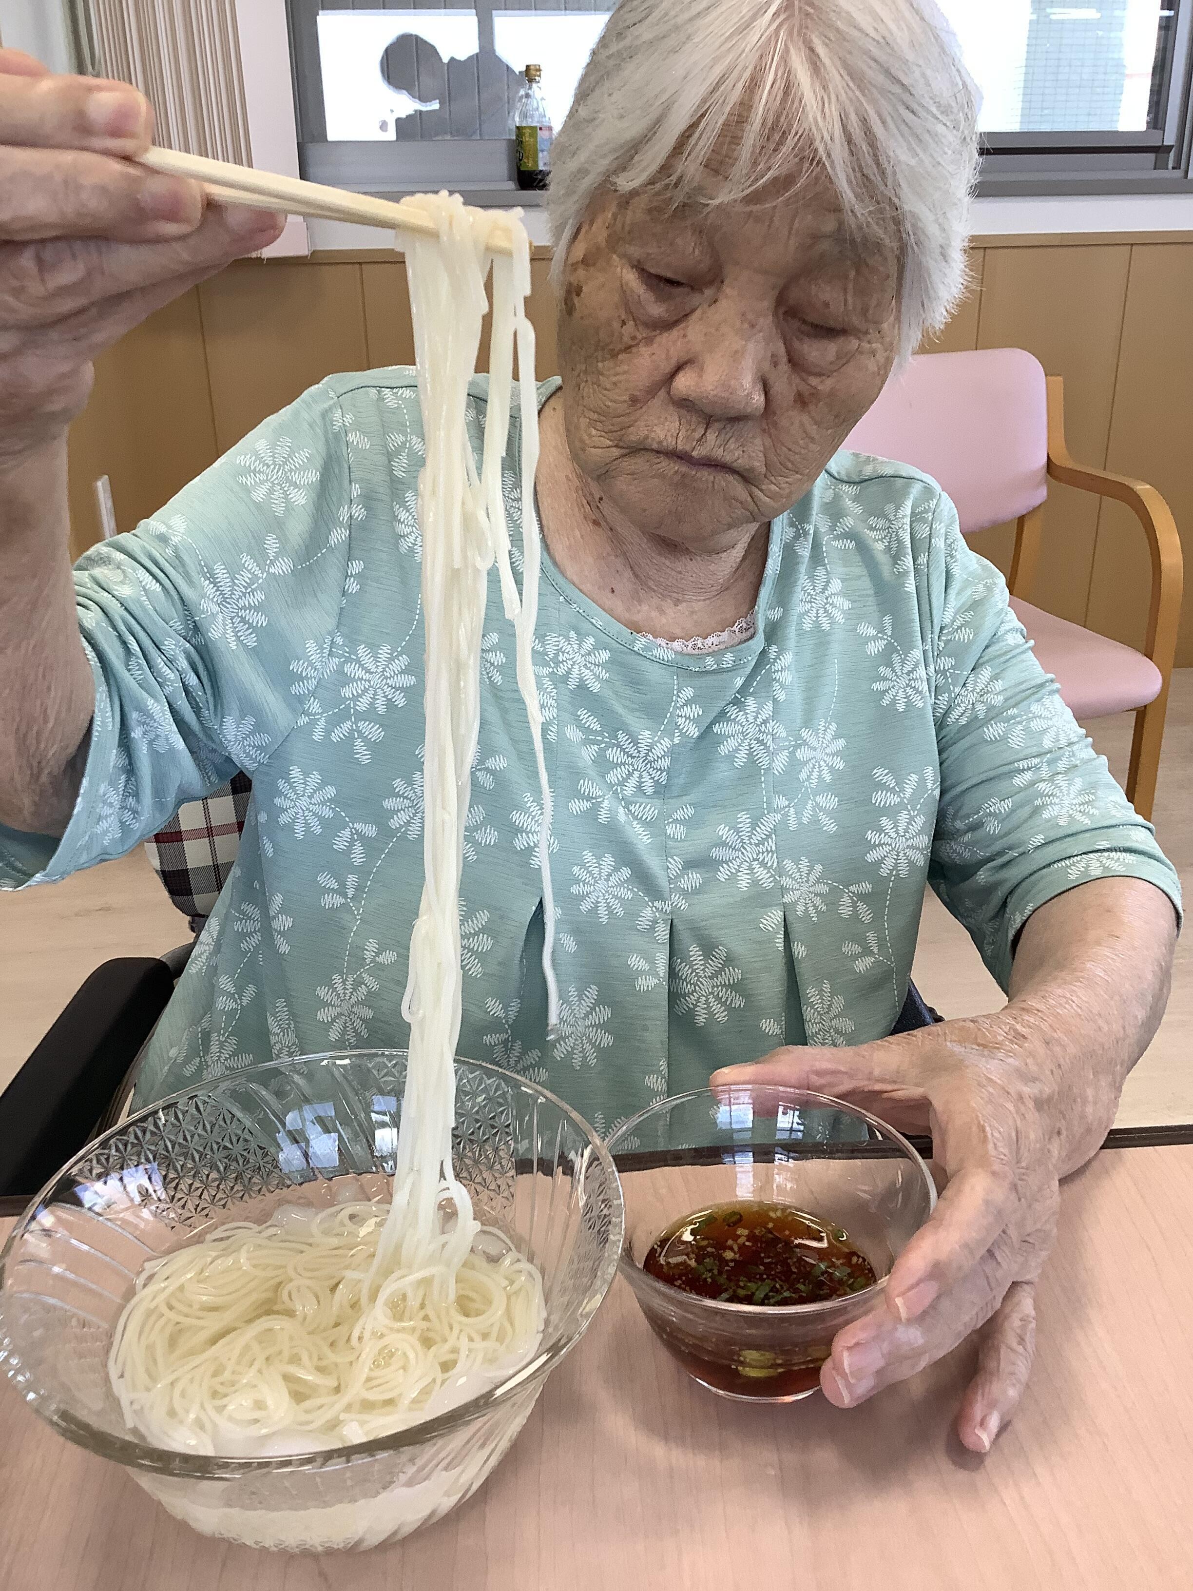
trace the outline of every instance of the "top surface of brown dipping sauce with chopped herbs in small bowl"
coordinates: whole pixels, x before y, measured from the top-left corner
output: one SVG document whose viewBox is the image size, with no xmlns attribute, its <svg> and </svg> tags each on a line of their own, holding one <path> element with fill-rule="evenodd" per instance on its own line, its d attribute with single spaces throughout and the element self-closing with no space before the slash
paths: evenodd
<svg viewBox="0 0 1193 1591">
<path fill-rule="evenodd" d="M 673 1222 L 643 1270 L 681 1292 L 719 1303 L 795 1306 L 873 1287 L 873 1266 L 841 1227 L 792 1204 L 743 1200 Z"/>
</svg>

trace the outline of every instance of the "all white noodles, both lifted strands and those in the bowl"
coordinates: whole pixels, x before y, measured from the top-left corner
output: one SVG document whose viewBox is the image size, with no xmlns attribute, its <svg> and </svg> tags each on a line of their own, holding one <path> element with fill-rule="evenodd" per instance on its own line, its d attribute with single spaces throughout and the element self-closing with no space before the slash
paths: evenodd
<svg viewBox="0 0 1193 1591">
<path fill-rule="evenodd" d="M 547 1021 L 552 971 L 550 789 L 533 668 L 539 535 L 538 395 L 525 315 L 530 245 L 488 256 L 487 223 L 445 194 L 418 200 L 439 239 L 402 239 L 410 282 L 426 465 L 418 482 L 426 628 L 423 897 L 402 1012 L 409 1068 L 393 1203 L 235 1223 L 146 1266 L 116 1327 L 113 1389 L 134 1429 L 200 1453 L 280 1453 L 363 1441 L 484 1391 L 525 1363 L 542 1333 L 538 1270 L 474 1217 L 452 1169 L 461 1017 L 460 878 L 480 727 L 480 638 L 496 562 L 517 636 L 517 679 L 539 775 Z M 468 438 L 493 275 L 490 396 L 477 473 Z M 514 348 L 522 425 L 523 579 L 511 563 L 501 473 Z"/>
</svg>

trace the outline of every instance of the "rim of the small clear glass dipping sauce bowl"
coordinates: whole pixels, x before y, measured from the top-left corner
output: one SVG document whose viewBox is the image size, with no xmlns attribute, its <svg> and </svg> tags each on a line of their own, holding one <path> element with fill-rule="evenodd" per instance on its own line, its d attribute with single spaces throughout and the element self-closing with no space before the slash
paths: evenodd
<svg viewBox="0 0 1193 1591">
<path fill-rule="evenodd" d="M 832 1095 L 814 1093 L 811 1088 L 787 1088 L 783 1083 L 725 1083 L 722 1088 L 692 1088 L 690 1093 L 673 1095 L 670 1099 L 655 1099 L 654 1104 L 639 1111 L 638 1115 L 630 1117 L 628 1122 L 622 1122 L 616 1133 L 609 1133 L 606 1149 L 614 1157 L 614 1166 L 617 1165 L 619 1139 L 628 1139 L 635 1131 L 641 1130 L 643 1123 L 652 1115 L 660 1115 L 663 1111 L 674 1109 L 678 1104 L 690 1104 L 695 1099 L 724 1099 L 725 1095 L 738 1090 L 741 1093 L 749 1093 L 751 1098 L 757 1098 L 759 1095 L 773 1096 L 776 1104 L 781 1104 L 784 1099 L 791 1101 L 795 1095 L 799 1095 L 800 1104 L 813 1099 L 818 1106 L 826 1106 L 832 1111 L 845 1111 L 846 1115 L 853 1115 L 857 1120 L 865 1122 L 867 1126 L 881 1133 L 888 1142 L 902 1149 L 903 1158 L 911 1165 L 911 1169 L 918 1173 L 927 1193 L 927 1214 L 924 1216 L 924 1220 L 932 1216 L 932 1211 L 937 1208 L 937 1185 L 932 1181 L 932 1173 L 927 1169 L 927 1161 L 915 1144 L 908 1142 L 902 1133 L 897 1133 L 889 1122 L 883 1122 L 880 1117 L 870 1115 L 870 1112 L 862 1111 L 861 1106 L 849 1104 L 846 1099 L 835 1099 Z M 754 1141 L 762 1142 L 762 1139 L 754 1139 L 751 1134 L 751 1138 L 746 1138 L 744 1141 L 735 1141 L 733 1147 L 749 1149 Z M 666 1153 L 666 1150 L 660 1150 L 660 1153 Z M 622 1243 L 624 1241 L 625 1238 L 622 1238 Z M 619 1252 L 617 1268 L 627 1279 L 630 1279 L 635 1292 L 641 1289 L 647 1298 L 657 1298 L 659 1303 L 674 1308 L 674 1287 L 668 1287 L 666 1282 L 660 1282 L 657 1276 L 651 1276 L 649 1271 L 644 1271 L 641 1265 L 636 1265 L 625 1252 Z M 854 1305 L 857 1300 L 865 1300 L 869 1303 L 872 1298 L 878 1298 L 878 1295 L 884 1290 L 886 1276 L 880 1276 L 873 1287 L 864 1287 L 861 1292 L 846 1293 L 843 1298 L 826 1298 L 822 1303 L 802 1303 L 795 1308 L 791 1305 L 724 1303 L 721 1298 L 701 1298 L 698 1293 L 682 1293 L 681 1297 L 686 1306 L 690 1305 L 700 1313 L 708 1311 L 709 1316 L 721 1316 L 724 1321 L 754 1321 L 756 1324 L 767 1321 L 803 1327 L 810 1321 L 840 1313 L 841 1305 L 845 1303 Z"/>
</svg>

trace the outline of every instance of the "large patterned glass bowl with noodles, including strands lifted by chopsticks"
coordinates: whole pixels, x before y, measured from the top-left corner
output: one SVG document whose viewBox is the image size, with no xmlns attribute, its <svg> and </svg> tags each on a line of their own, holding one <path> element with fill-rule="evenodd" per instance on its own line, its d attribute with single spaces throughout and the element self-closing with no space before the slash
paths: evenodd
<svg viewBox="0 0 1193 1591">
<path fill-rule="evenodd" d="M 512 228 L 512 258 L 492 258 L 487 224 L 460 200 L 423 204 L 439 240 L 407 247 L 426 434 L 425 885 L 402 1006 L 409 1058 L 274 1063 L 143 1111 L 43 1192 L 0 1262 L 0 1363 L 29 1402 L 127 1464 L 177 1516 L 256 1546 L 371 1546 L 468 1497 L 592 1319 L 620 1241 L 616 1174 L 595 1134 L 544 1090 L 455 1060 L 463 824 L 495 563 L 541 783 L 549 1021 L 557 1006 L 531 665 L 538 393 L 523 229 Z M 477 463 L 468 380 L 490 270 Z M 520 590 L 501 479 L 515 345 Z M 288 1138 L 317 1115 L 331 1161 L 302 1158 Z"/>
</svg>

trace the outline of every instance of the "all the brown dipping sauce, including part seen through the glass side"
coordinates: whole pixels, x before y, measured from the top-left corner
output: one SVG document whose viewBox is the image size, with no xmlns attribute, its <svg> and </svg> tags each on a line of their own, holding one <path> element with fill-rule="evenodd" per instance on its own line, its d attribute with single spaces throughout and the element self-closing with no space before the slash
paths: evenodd
<svg viewBox="0 0 1193 1591">
<path fill-rule="evenodd" d="M 862 1292 L 875 1270 L 849 1235 L 794 1204 L 738 1200 L 673 1222 L 651 1244 L 643 1270 L 668 1287 L 719 1303 L 797 1308 Z M 814 1391 L 829 1343 L 795 1356 L 760 1348 L 730 1354 L 697 1344 L 676 1321 L 647 1313 L 654 1332 L 705 1386 L 738 1398 L 791 1402 Z M 703 1351 L 701 1351 L 703 1348 Z"/>
</svg>

